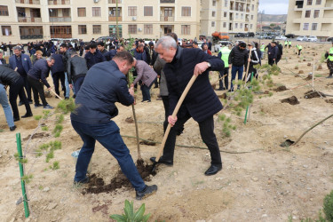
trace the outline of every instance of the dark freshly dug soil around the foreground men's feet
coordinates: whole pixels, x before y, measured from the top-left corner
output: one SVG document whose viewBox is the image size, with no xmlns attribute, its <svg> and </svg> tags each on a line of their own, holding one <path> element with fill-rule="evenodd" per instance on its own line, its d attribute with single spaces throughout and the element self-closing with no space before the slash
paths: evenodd
<svg viewBox="0 0 333 222">
<path fill-rule="evenodd" d="M 144 161 L 138 160 L 137 169 L 141 178 L 145 181 L 150 181 L 151 170 L 153 169 L 153 164 L 149 165 Z M 154 175 L 153 175 L 154 176 Z M 99 194 L 99 193 L 109 193 L 115 191 L 118 188 L 128 189 L 131 187 L 130 180 L 123 175 L 122 170 L 118 170 L 115 177 L 111 179 L 110 184 L 105 184 L 103 178 L 99 178 L 95 173 L 90 177 L 88 187 L 83 190 L 83 194 Z"/>
</svg>

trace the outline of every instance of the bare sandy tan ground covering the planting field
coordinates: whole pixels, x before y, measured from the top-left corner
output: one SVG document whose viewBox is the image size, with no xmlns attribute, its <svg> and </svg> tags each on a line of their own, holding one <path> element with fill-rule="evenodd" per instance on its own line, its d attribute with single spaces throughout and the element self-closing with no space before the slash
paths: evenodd
<svg viewBox="0 0 333 222">
<path fill-rule="evenodd" d="M 55 140 L 52 136 L 54 118 L 46 122 L 49 131 L 36 131 L 38 136 L 28 135 L 36 129 L 38 122 L 33 118 L 17 122 L 18 129 L 9 131 L 4 111 L 0 108 L 0 218 L 2 221 L 112 221 L 110 214 L 122 214 L 126 199 L 134 206 L 146 203 L 146 212 L 151 213 L 149 221 L 294 221 L 315 218 L 322 208 L 322 200 L 333 187 L 333 131 L 332 119 L 310 131 L 295 147 L 280 147 L 286 139 L 296 140 L 306 129 L 332 112 L 330 98 L 305 99 L 305 92 L 311 91 L 312 80 L 304 80 L 313 72 L 315 61 L 321 53 L 329 50 L 330 44 L 303 44 L 301 57 L 296 49 L 284 51 L 279 67 L 281 74 L 274 76 L 272 91 L 257 95 L 250 107 L 249 122 L 243 123 L 243 116 L 232 115 L 237 129 L 230 138 L 222 133 L 222 124 L 215 115 L 215 133 L 222 150 L 223 170 L 217 175 L 205 177 L 203 172 L 210 166 L 208 150 L 176 147 L 173 167 L 158 166 L 155 176 L 149 176 L 147 184 L 158 185 L 155 195 L 143 201 L 135 200 L 131 187 L 115 188 L 115 191 L 99 194 L 83 194 L 87 186 L 73 186 L 75 160 L 71 154 L 82 146 L 82 140 L 73 130 L 69 115 L 65 116 L 64 129 L 59 140 L 62 149 L 56 150 L 54 159 L 45 163 L 45 155 L 36 157 L 33 151 L 41 144 Z M 263 60 L 265 64 L 267 60 Z M 307 66 L 311 63 L 311 66 Z M 297 66 L 304 71 L 298 75 Z M 318 63 L 315 64 L 318 67 Z M 314 88 L 333 95 L 333 79 L 328 75 L 326 64 L 314 71 Z M 211 83 L 218 79 L 211 75 Z M 52 80 L 49 80 L 52 82 Z M 287 90 L 274 91 L 284 85 Z M 220 96 L 224 91 L 216 91 Z M 138 101 L 141 92 L 138 91 Z M 163 139 L 163 102 L 156 100 L 158 89 L 152 89 L 152 102 L 135 106 L 139 121 L 139 137 L 161 142 Z M 259 96 L 261 97 L 259 99 Z M 295 97 L 299 104 L 281 103 L 281 99 Z M 59 99 L 48 99 L 56 106 Z M 117 105 L 119 115 L 115 117 L 123 136 L 135 137 L 135 125 L 131 107 Z M 41 115 L 42 108 L 33 108 L 34 115 Z M 231 116 L 230 110 L 221 113 Z M 221 114 L 219 113 L 219 114 Z M 20 115 L 24 115 L 20 107 Z M 244 114 L 242 114 L 244 115 Z M 126 121 L 127 119 L 127 121 Z M 28 199 L 31 216 L 24 218 L 23 204 L 15 203 L 21 196 L 20 170 L 13 155 L 17 153 L 15 133 L 20 132 L 22 147 L 25 148 L 28 163 L 25 170 L 34 178 L 28 184 Z M 43 133 L 43 134 L 42 134 Z M 25 139 L 25 140 L 24 140 Z M 137 160 L 136 139 L 123 137 Z M 178 136 L 178 145 L 205 147 L 200 137 L 198 124 L 192 119 Z M 159 144 L 140 144 L 143 159 L 155 156 Z M 249 152 L 249 153 L 243 153 Z M 234 154 L 239 153 L 239 154 Z M 49 168 L 55 161 L 59 170 Z M 97 143 L 91 161 L 91 173 L 102 178 L 105 184 L 115 178 L 119 166 L 115 158 Z M 97 181 L 98 183 L 98 181 Z"/>
</svg>

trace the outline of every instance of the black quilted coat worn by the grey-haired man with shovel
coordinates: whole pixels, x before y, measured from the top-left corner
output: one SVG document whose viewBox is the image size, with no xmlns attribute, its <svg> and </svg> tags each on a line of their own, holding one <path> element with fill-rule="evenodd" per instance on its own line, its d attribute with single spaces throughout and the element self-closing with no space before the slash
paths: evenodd
<svg viewBox="0 0 333 222">
<path fill-rule="evenodd" d="M 163 69 L 169 90 L 169 115 L 172 114 L 187 83 L 194 75 L 195 65 L 202 61 L 210 62 L 211 67 L 196 78 L 179 109 L 178 118 L 188 112 L 196 122 L 202 122 L 222 109 L 222 104 L 211 87 L 209 71 L 222 71 L 223 60 L 210 56 L 200 49 L 178 47 L 173 60 L 166 63 Z"/>
</svg>

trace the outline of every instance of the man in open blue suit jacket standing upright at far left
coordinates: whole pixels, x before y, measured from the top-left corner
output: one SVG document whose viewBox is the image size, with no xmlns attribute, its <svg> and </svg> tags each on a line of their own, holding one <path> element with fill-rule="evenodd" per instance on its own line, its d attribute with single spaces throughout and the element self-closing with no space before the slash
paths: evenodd
<svg viewBox="0 0 333 222">
<path fill-rule="evenodd" d="M 20 76 L 22 76 L 24 81 L 24 88 L 26 88 L 27 91 L 28 101 L 30 104 L 32 104 L 31 86 L 30 83 L 28 83 L 27 78 L 28 71 L 32 68 L 30 57 L 21 52 L 20 46 L 15 46 L 13 50 L 14 55 L 9 58 L 9 65 L 12 70 L 17 68 L 16 71 L 20 74 Z M 20 105 L 23 105 L 22 101 L 20 101 L 19 106 Z"/>
</svg>

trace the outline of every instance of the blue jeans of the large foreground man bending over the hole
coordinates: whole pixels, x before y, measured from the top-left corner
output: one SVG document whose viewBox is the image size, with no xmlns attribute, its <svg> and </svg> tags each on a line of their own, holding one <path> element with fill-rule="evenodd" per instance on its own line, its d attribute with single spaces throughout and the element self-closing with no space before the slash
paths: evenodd
<svg viewBox="0 0 333 222">
<path fill-rule="evenodd" d="M 75 167 L 75 181 L 83 180 L 86 177 L 88 165 L 91 162 L 91 155 L 95 150 L 97 140 L 115 157 L 123 174 L 130 180 L 135 190 L 142 191 L 145 189 L 145 182 L 139 175 L 137 167 L 131 158 L 130 150 L 124 144 L 115 122 L 87 124 L 72 120 L 72 125 L 83 140 L 83 147 L 81 148 Z"/>
</svg>

